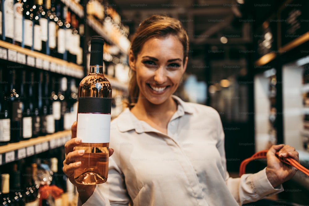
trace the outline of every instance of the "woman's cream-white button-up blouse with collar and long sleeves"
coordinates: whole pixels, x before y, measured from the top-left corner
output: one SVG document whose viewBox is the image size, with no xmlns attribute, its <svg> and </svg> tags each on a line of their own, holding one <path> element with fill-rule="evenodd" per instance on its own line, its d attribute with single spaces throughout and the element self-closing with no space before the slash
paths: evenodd
<svg viewBox="0 0 309 206">
<path fill-rule="evenodd" d="M 110 148 L 115 151 L 108 180 L 83 205 L 233 206 L 283 191 L 272 187 L 265 169 L 230 178 L 218 112 L 172 97 L 178 107 L 167 135 L 129 108 L 112 121 Z"/>
</svg>

